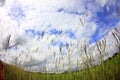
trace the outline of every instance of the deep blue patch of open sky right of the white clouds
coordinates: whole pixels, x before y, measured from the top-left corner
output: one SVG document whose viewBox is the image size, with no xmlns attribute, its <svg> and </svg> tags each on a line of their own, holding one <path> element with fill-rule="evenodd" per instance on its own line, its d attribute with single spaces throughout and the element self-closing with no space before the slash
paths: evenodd
<svg viewBox="0 0 120 80">
<path fill-rule="evenodd" d="M 116 3 L 118 2 L 116 1 Z M 109 7 L 109 11 L 107 11 L 108 7 Z M 96 16 L 95 18 L 93 18 L 93 20 L 96 19 L 95 22 L 98 24 L 98 27 L 95 33 L 91 36 L 90 43 L 92 43 L 92 41 L 94 42 L 94 38 L 96 38 L 96 40 L 101 39 L 103 36 L 107 35 L 108 31 L 110 31 L 116 26 L 116 24 L 120 21 L 120 14 L 116 13 L 118 8 L 120 8 L 120 6 L 116 4 L 110 6 L 105 5 L 104 7 L 101 8 L 100 11 L 96 13 Z M 108 31 L 104 33 L 105 30 Z M 101 31 L 104 34 L 101 34 L 100 33 Z M 99 36 L 99 34 L 101 35 Z"/>
</svg>

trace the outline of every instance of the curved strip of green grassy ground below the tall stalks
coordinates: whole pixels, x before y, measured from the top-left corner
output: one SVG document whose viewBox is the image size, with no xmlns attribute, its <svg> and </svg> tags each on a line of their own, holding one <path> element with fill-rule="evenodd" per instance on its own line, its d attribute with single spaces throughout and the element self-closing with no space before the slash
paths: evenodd
<svg viewBox="0 0 120 80">
<path fill-rule="evenodd" d="M 3 64 L 5 80 L 120 80 L 120 53 L 99 66 L 62 74 L 30 73 Z"/>
</svg>

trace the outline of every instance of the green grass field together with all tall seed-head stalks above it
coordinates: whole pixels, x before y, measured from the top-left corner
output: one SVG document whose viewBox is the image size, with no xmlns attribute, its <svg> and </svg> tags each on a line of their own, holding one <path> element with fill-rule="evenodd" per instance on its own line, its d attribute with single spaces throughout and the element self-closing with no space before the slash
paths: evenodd
<svg viewBox="0 0 120 80">
<path fill-rule="evenodd" d="M 8 65 L 3 63 L 4 65 L 4 78 L 5 80 L 120 80 L 120 37 L 119 37 L 119 30 L 117 28 L 114 28 L 115 31 L 112 31 L 112 35 L 115 39 L 114 43 L 115 46 L 118 48 L 119 53 L 115 54 L 112 58 L 109 58 L 107 61 L 104 61 L 104 56 L 108 57 L 109 53 L 107 52 L 108 48 L 108 42 L 107 37 L 103 37 L 100 41 L 96 41 L 95 46 L 89 46 L 85 42 L 81 44 L 81 42 L 78 40 L 77 45 L 74 47 L 71 47 L 72 44 L 67 43 L 66 44 L 66 54 L 68 59 L 68 71 L 61 73 L 61 74 L 47 74 L 47 73 L 32 73 L 32 72 L 26 72 L 21 68 L 18 68 L 14 65 Z M 44 35 L 43 35 L 44 36 Z M 61 35 L 62 36 L 62 35 Z M 11 35 L 8 35 L 8 37 L 5 39 L 5 42 L 3 42 L 3 48 L 4 50 L 8 50 L 18 44 L 21 43 L 20 40 L 18 40 L 14 45 L 11 46 L 10 44 Z M 51 44 L 54 41 L 54 39 L 51 39 Z M 112 45 L 111 45 L 112 46 Z M 82 59 L 82 67 L 84 69 L 78 70 L 78 71 L 71 71 L 72 66 L 72 53 L 74 52 L 74 49 L 78 50 L 78 54 L 82 53 L 80 55 L 79 59 Z M 33 52 L 37 52 L 39 48 L 33 50 Z M 51 50 L 51 48 L 49 48 Z M 100 65 L 94 65 L 94 57 L 93 52 L 96 50 L 95 53 L 98 57 L 98 61 L 101 63 Z M 62 54 L 62 46 L 59 46 L 59 53 Z M 24 54 L 23 52 L 20 52 Z M 21 54 L 19 54 L 19 57 Z M 27 55 L 26 55 L 27 56 Z M 19 65 L 18 58 L 15 58 L 16 65 Z M 54 58 L 56 58 L 56 52 L 54 53 Z M 79 62 L 80 60 L 77 60 L 77 67 L 79 69 Z M 58 65 L 64 60 L 64 57 L 62 56 L 59 58 L 59 60 L 56 60 L 55 68 L 58 69 Z M 30 63 L 34 64 L 34 58 L 31 57 Z M 46 61 L 44 62 L 46 63 Z M 80 64 L 81 65 L 81 64 Z M 46 69 L 46 66 L 44 66 Z M 91 68 L 90 68 L 91 67 Z M 43 70 L 44 71 L 44 70 Z"/>
</svg>

